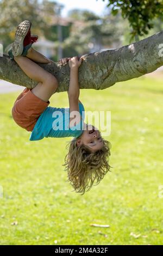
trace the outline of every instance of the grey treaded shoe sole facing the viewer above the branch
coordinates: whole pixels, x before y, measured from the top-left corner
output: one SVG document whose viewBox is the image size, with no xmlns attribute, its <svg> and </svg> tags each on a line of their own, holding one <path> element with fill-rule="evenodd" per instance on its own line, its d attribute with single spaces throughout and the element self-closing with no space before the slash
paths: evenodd
<svg viewBox="0 0 163 256">
<path fill-rule="evenodd" d="M 12 44 L 12 54 L 15 57 L 20 56 L 23 52 L 23 41 L 30 29 L 30 26 L 31 26 L 31 22 L 26 20 L 26 21 L 22 21 L 16 29 L 15 41 Z"/>
</svg>

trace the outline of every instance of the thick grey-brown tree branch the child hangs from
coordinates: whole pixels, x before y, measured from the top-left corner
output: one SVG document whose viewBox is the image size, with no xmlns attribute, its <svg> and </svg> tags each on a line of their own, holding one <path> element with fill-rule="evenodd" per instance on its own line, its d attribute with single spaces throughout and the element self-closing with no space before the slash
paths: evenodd
<svg viewBox="0 0 163 256">
<path fill-rule="evenodd" d="M 117 82 L 130 80 L 153 72 L 163 65 L 163 31 L 139 42 L 114 50 L 85 54 L 79 68 L 80 89 L 102 90 Z M 159 56 L 160 55 L 160 56 Z M 58 80 L 57 92 L 68 90 L 70 68 L 67 65 L 39 64 Z M 37 82 L 31 80 L 7 55 L 0 57 L 0 79 L 20 86 L 34 88 Z"/>
</svg>

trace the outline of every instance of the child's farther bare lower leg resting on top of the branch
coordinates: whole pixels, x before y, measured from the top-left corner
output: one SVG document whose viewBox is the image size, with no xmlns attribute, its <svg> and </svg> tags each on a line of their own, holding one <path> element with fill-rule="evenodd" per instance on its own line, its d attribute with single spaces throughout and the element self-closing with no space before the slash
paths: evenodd
<svg viewBox="0 0 163 256">
<path fill-rule="evenodd" d="M 29 59 L 38 63 L 52 63 L 53 60 L 43 56 L 40 52 L 37 52 L 33 47 L 30 47 L 26 55 Z"/>
</svg>

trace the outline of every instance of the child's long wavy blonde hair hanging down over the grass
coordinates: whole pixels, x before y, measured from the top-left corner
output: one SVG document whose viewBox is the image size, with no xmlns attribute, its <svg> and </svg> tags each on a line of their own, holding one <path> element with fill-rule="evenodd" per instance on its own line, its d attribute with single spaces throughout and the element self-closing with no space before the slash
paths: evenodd
<svg viewBox="0 0 163 256">
<path fill-rule="evenodd" d="M 109 156 L 111 143 L 103 139 L 102 149 L 92 153 L 86 145 L 77 145 L 77 140 L 80 138 L 74 137 L 66 145 L 69 146 L 68 153 L 65 156 L 65 170 L 67 171 L 68 180 L 74 190 L 82 195 L 89 191 L 96 180 L 95 186 L 104 178 L 104 175 L 112 168 L 109 165 Z"/>
</svg>

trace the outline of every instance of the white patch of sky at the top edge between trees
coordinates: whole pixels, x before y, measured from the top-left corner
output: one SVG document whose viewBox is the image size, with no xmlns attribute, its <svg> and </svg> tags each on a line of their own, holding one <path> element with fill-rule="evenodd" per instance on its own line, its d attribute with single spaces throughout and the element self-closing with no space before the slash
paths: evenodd
<svg viewBox="0 0 163 256">
<path fill-rule="evenodd" d="M 66 17 L 68 11 L 72 9 L 87 9 L 98 15 L 103 15 L 108 0 L 105 0 L 105 2 L 102 0 L 55 0 L 55 2 L 65 5 L 61 15 Z"/>
</svg>

